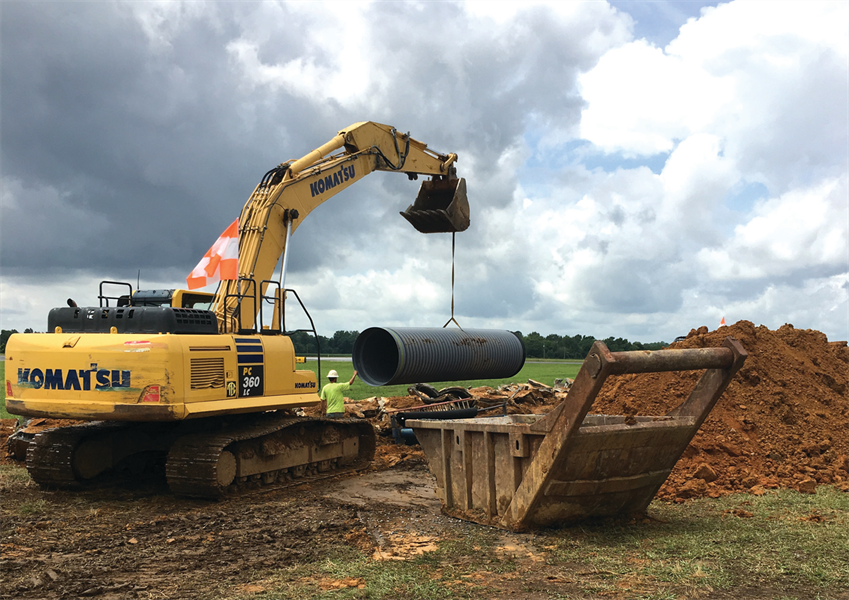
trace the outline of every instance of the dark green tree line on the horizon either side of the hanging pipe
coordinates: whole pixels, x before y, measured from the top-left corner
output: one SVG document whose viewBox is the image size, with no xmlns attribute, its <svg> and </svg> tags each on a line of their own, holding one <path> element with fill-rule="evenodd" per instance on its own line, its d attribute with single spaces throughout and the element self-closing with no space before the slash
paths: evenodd
<svg viewBox="0 0 849 600">
<path fill-rule="evenodd" d="M 521 331 L 513 334 L 525 345 L 525 356 L 528 358 L 573 358 L 584 359 L 597 338 L 591 335 L 558 335 L 549 334 L 545 337 L 533 331 L 528 335 Z M 354 341 L 358 331 L 337 331 L 333 337 L 318 336 L 322 354 L 351 354 L 354 351 Z M 302 331 L 291 334 L 295 352 L 312 355 L 316 352 L 315 338 Z M 609 337 L 601 340 L 611 352 L 627 352 L 631 350 L 659 350 L 668 346 L 666 342 L 630 342 L 623 338 Z"/>
</svg>

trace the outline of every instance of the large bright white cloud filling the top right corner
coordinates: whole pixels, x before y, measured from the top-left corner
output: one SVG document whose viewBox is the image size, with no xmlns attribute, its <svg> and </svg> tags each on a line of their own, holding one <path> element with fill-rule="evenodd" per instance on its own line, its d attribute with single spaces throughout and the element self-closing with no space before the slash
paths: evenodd
<svg viewBox="0 0 849 600">
<path fill-rule="evenodd" d="M 780 172 L 781 163 L 817 153 L 831 139 L 823 131 L 846 124 L 838 82 L 849 68 L 847 22 L 842 2 L 705 9 L 665 49 L 637 40 L 581 77 L 588 102 L 581 135 L 608 152 L 650 155 L 712 133 L 728 139 L 735 159 Z M 834 89 L 812 85 L 827 79 Z M 804 105 L 811 110 L 800 111 Z M 769 150 L 777 154 L 769 163 L 745 160 Z"/>
</svg>

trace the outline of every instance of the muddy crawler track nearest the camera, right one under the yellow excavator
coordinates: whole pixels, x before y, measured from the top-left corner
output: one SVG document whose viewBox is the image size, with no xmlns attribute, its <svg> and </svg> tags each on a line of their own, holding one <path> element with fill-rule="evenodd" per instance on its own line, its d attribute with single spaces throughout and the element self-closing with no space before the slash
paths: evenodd
<svg viewBox="0 0 849 600">
<path fill-rule="evenodd" d="M 219 498 L 305 475 L 367 466 L 374 458 L 369 423 L 296 417 L 257 419 L 215 434 L 180 437 L 166 476 L 179 496 Z"/>
</svg>

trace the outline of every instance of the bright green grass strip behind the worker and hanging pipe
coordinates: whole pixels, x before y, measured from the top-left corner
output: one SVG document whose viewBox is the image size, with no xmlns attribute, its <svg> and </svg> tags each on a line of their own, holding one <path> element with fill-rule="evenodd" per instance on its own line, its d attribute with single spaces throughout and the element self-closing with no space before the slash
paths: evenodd
<svg viewBox="0 0 849 600">
<path fill-rule="evenodd" d="M 303 367 L 302 367 L 303 368 Z M 306 362 L 306 368 L 311 369 L 313 372 L 317 369 L 316 361 L 309 360 Z M 465 380 L 465 381 L 428 381 L 423 383 L 430 383 L 436 389 L 441 389 L 443 387 L 448 386 L 462 386 L 465 388 L 470 387 L 479 387 L 482 385 L 488 385 L 491 387 L 498 387 L 504 383 L 511 382 L 526 382 L 528 379 L 534 379 L 535 381 L 539 381 L 545 383 L 547 385 L 553 385 L 555 379 L 560 379 L 564 377 L 573 378 L 578 374 L 578 370 L 581 368 L 581 362 L 578 361 L 568 361 L 568 362 L 543 362 L 543 363 L 525 363 L 525 366 L 522 367 L 522 370 L 519 371 L 513 377 L 507 377 L 505 379 L 476 379 L 476 380 Z M 322 361 L 321 363 L 321 374 L 322 380 L 319 382 L 320 385 L 324 385 L 327 383 L 327 373 L 330 369 L 335 369 L 339 373 L 339 381 L 348 381 L 351 378 L 351 375 L 354 373 L 354 366 L 349 362 L 331 362 L 331 361 Z M 365 398 L 371 398 L 373 396 L 379 397 L 392 397 L 392 396 L 406 396 L 407 388 L 409 385 L 387 385 L 381 387 L 372 387 L 370 385 L 366 385 L 359 378 L 354 382 L 354 385 L 351 386 L 351 391 L 346 394 L 348 398 L 351 400 L 363 400 Z"/>
</svg>

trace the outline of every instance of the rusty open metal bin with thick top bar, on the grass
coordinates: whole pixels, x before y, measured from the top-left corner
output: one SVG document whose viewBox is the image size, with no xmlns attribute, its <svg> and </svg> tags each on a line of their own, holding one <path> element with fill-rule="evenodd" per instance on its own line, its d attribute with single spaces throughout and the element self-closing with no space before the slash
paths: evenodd
<svg viewBox="0 0 849 600">
<path fill-rule="evenodd" d="M 548 415 L 407 424 L 448 515 L 523 531 L 642 513 L 746 356 L 730 337 L 720 348 L 638 352 L 596 342 Z M 588 414 L 611 375 L 701 369 L 690 396 L 665 416 Z"/>
</svg>

